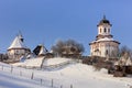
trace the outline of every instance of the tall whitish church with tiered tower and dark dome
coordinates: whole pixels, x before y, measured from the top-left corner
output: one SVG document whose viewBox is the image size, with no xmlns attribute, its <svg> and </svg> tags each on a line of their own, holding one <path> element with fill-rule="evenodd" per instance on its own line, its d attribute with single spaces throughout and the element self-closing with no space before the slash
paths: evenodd
<svg viewBox="0 0 132 88">
<path fill-rule="evenodd" d="M 90 56 L 118 56 L 120 43 L 113 40 L 113 35 L 111 35 L 111 26 L 112 24 L 110 21 L 106 19 L 106 15 L 103 15 L 102 20 L 97 25 L 98 35 L 96 36 L 96 40 L 89 43 Z"/>
</svg>

